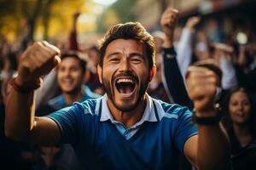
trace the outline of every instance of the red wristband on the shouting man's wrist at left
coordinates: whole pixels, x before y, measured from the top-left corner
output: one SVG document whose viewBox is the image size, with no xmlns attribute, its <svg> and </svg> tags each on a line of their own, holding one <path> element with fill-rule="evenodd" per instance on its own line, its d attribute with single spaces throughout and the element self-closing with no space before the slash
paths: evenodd
<svg viewBox="0 0 256 170">
<path fill-rule="evenodd" d="M 15 79 L 16 78 L 12 78 L 9 81 L 9 84 L 15 89 L 15 91 L 19 92 L 20 94 L 28 94 L 28 93 L 32 92 L 33 90 L 40 87 L 39 79 L 38 79 L 37 84 L 33 84 L 32 86 L 20 86 L 19 84 L 17 84 L 17 82 L 15 82 Z"/>
</svg>

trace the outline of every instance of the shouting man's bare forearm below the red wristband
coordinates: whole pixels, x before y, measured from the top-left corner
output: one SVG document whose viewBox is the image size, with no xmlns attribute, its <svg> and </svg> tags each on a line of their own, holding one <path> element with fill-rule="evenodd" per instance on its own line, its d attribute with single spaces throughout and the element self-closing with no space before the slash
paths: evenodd
<svg viewBox="0 0 256 170">
<path fill-rule="evenodd" d="M 21 94 L 11 89 L 6 103 L 5 134 L 11 139 L 26 140 L 34 126 L 33 92 Z"/>
</svg>

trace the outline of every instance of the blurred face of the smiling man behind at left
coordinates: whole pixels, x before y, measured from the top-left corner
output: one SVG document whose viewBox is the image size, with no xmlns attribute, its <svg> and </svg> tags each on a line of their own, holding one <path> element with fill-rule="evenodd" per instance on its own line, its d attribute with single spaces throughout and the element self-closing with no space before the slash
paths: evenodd
<svg viewBox="0 0 256 170">
<path fill-rule="evenodd" d="M 79 59 L 66 57 L 58 67 L 58 82 L 62 92 L 72 94 L 81 89 L 84 72 Z"/>
</svg>

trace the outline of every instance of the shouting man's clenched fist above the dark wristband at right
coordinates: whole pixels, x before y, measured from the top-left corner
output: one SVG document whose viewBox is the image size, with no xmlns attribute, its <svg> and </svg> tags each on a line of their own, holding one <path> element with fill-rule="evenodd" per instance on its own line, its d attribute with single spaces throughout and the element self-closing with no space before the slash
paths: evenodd
<svg viewBox="0 0 256 170">
<path fill-rule="evenodd" d="M 186 83 L 189 97 L 194 102 L 197 116 L 216 116 L 214 99 L 219 87 L 219 81 L 217 74 L 205 67 L 189 67 Z"/>
</svg>

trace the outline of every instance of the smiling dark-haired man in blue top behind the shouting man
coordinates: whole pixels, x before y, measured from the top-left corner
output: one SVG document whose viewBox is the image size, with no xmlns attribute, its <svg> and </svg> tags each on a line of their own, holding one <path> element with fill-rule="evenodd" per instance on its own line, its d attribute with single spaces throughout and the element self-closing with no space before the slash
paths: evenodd
<svg viewBox="0 0 256 170">
<path fill-rule="evenodd" d="M 57 82 L 61 88 L 61 94 L 50 99 L 46 106 L 41 106 L 36 112 L 38 116 L 45 116 L 53 111 L 72 105 L 74 102 L 82 102 L 86 99 L 100 97 L 90 91 L 84 85 L 84 75 L 87 65 L 86 57 L 75 51 L 69 51 L 61 55 L 61 63 L 57 67 Z"/>
</svg>

